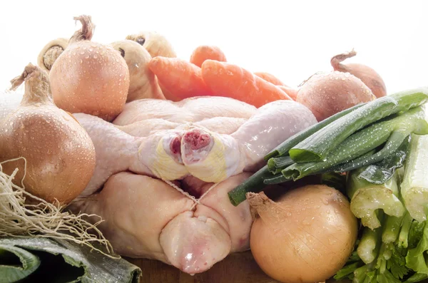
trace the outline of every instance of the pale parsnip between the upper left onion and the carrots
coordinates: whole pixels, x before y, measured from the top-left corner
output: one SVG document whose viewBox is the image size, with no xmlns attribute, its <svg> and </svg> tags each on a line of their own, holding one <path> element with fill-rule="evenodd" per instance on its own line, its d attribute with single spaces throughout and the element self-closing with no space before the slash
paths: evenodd
<svg viewBox="0 0 428 283">
<path fill-rule="evenodd" d="M 129 89 L 126 102 L 143 98 L 165 99 L 158 84 L 158 78 L 148 68 L 151 56 L 135 41 L 123 40 L 111 43 L 121 53 L 129 69 Z"/>
</svg>

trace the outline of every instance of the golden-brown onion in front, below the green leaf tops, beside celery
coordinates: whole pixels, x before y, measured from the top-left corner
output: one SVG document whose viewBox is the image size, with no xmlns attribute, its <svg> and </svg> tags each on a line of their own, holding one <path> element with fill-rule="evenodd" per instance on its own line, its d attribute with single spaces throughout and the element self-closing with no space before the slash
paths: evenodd
<svg viewBox="0 0 428 283">
<path fill-rule="evenodd" d="M 285 283 L 324 282 L 341 269 L 357 240 L 357 218 L 341 192 L 307 185 L 270 200 L 248 192 L 257 212 L 250 248 L 261 269 Z"/>
</svg>

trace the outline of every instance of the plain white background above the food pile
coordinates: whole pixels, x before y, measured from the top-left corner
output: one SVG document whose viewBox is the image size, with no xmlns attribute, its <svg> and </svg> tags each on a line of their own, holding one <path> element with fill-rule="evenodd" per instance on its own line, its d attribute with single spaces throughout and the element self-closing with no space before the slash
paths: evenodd
<svg viewBox="0 0 428 283">
<path fill-rule="evenodd" d="M 0 91 L 43 46 L 69 38 L 89 14 L 93 41 L 111 43 L 158 31 L 188 59 L 202 44 L 228 61 L 297 86 L 330 58 L 355 48 L 350 62 L 374 68 L 389 93 L 428 86 L 428 1 L 1 1 Z"/>
</svg>

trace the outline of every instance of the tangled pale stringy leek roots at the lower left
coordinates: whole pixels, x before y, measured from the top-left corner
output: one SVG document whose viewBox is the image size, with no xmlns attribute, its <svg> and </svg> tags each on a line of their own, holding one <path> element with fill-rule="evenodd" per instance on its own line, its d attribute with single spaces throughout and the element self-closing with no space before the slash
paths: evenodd
<svg viewBox="0 0 428 283">
<path fill-rule="evenodd" d="M 21 158 L 26 163 L 25 158 Z M 113 247 L 103 237 L 97 226 L 101 223 L 101 217 L 97 215 L 79 214 L 72 215 L 63 212 L 62 207 L 46 202 L 35 195 L 31 195 L 24 185 L 14 185 L 12 180 L 16 177 L 19 169 L 15 168 L 11 175 L 3 171 L 3 165 L 14 160 L 0 163 L 0 237 L 47 237 L 75 242 L 86 245 L 91 249 L 111 258 L 120 258 L 113 254 Z M 25 176 L 24 167 L 24 176 Z M 37 200 L 37 205 L 26 203 L 26 197 Z M 86 221 L 86 217 L 99 217 L 100 220 L 94 224 Z M 93 231 L 91 234 L 88 231 Z M 97 243 L 106 249 L 104 252 Z"/>
</svg>

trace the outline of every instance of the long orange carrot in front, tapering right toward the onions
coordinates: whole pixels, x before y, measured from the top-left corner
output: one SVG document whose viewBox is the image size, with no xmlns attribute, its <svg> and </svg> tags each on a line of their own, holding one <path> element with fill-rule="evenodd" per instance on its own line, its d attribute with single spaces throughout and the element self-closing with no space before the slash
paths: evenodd
<svg viewBox="0 0 428 283">
<path fill-rule="evenodd" d="M 207 60 L 202 64 L 202 78 L 213 96 L 228 96 L 255 107 L 292 100 L 277 86 L 232 63 Z"/>
</svg>

